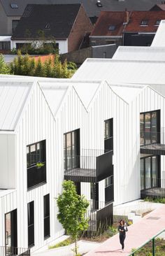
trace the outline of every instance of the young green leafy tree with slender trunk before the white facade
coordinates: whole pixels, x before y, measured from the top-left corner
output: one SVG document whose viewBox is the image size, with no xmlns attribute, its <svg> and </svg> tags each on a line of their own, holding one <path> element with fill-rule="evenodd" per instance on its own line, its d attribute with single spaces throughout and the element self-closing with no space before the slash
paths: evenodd
<svg viewBox="0 0 165 256">
<path fill-rule="evenodd" d="M 85 212 L 89 202 L 85 197 L 76 192 L 76 186 L 71 180 L 64 180 L 63 192 L 57 198 L 59 213 L 57 218 L 61 222 L 67 234 L 70 234 L 75 241 L 75 252 L 78 255 L 77 239 L 81 232 L 87 230 L 88 220 Z"/>
</svg>

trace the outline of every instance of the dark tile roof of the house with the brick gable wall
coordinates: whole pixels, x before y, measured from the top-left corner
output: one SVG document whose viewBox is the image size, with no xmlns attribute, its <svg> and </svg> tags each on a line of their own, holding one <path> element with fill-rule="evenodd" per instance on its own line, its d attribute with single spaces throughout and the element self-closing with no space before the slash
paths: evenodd
<svg viewBox="0 0 165 256">
<path fill-rule="evenodd" d="M 76 20 L 78 4 L 29 4 L 24 10 L 12 38 L 39 38 L 38 31 L 44 31 L 45 38 L 54 36 L 68 38 Z"/>
</svg>

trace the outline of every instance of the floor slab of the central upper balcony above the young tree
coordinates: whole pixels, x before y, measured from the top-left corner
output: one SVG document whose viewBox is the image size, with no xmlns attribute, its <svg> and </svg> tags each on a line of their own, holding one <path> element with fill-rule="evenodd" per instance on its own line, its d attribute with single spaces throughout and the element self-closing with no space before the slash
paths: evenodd
<svg viewBox="0 0 165 256">
<path fill-rule="evenodd" d="M 96 169 L 71 169 L 64 171 L 64 179 L 76 182 L 96 182 Z"/>
</svg>

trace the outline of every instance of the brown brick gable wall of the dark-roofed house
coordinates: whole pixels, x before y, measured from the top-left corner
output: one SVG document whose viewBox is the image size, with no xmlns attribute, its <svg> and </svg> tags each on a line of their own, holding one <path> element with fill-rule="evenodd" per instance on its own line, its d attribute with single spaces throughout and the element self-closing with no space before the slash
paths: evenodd
<svg viewBox="0 0 165 256">
<path fill-rule="evenodd" d="M 76 21 L 73 24 L 71 33 L 68 38 L 68 51 L 78 50 L 82 38 L 85 36 L 85 33 L 91 32 L 93 29 L 92 22 L 89 20 L 89 17 L 85 13 L 83 6 L 80 7 Z"/>
</svg>

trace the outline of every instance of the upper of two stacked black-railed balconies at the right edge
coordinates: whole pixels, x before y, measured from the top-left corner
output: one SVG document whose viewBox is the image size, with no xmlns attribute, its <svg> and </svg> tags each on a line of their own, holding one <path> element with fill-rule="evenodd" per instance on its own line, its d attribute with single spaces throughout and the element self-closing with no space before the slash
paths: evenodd
<svg viewBox="0 0 165 256">
<path fill-rule="evenodd" d="M 156 131 L 141 133 L 141 154 L 165 155 L 165 134 Z"/>
</svg>

